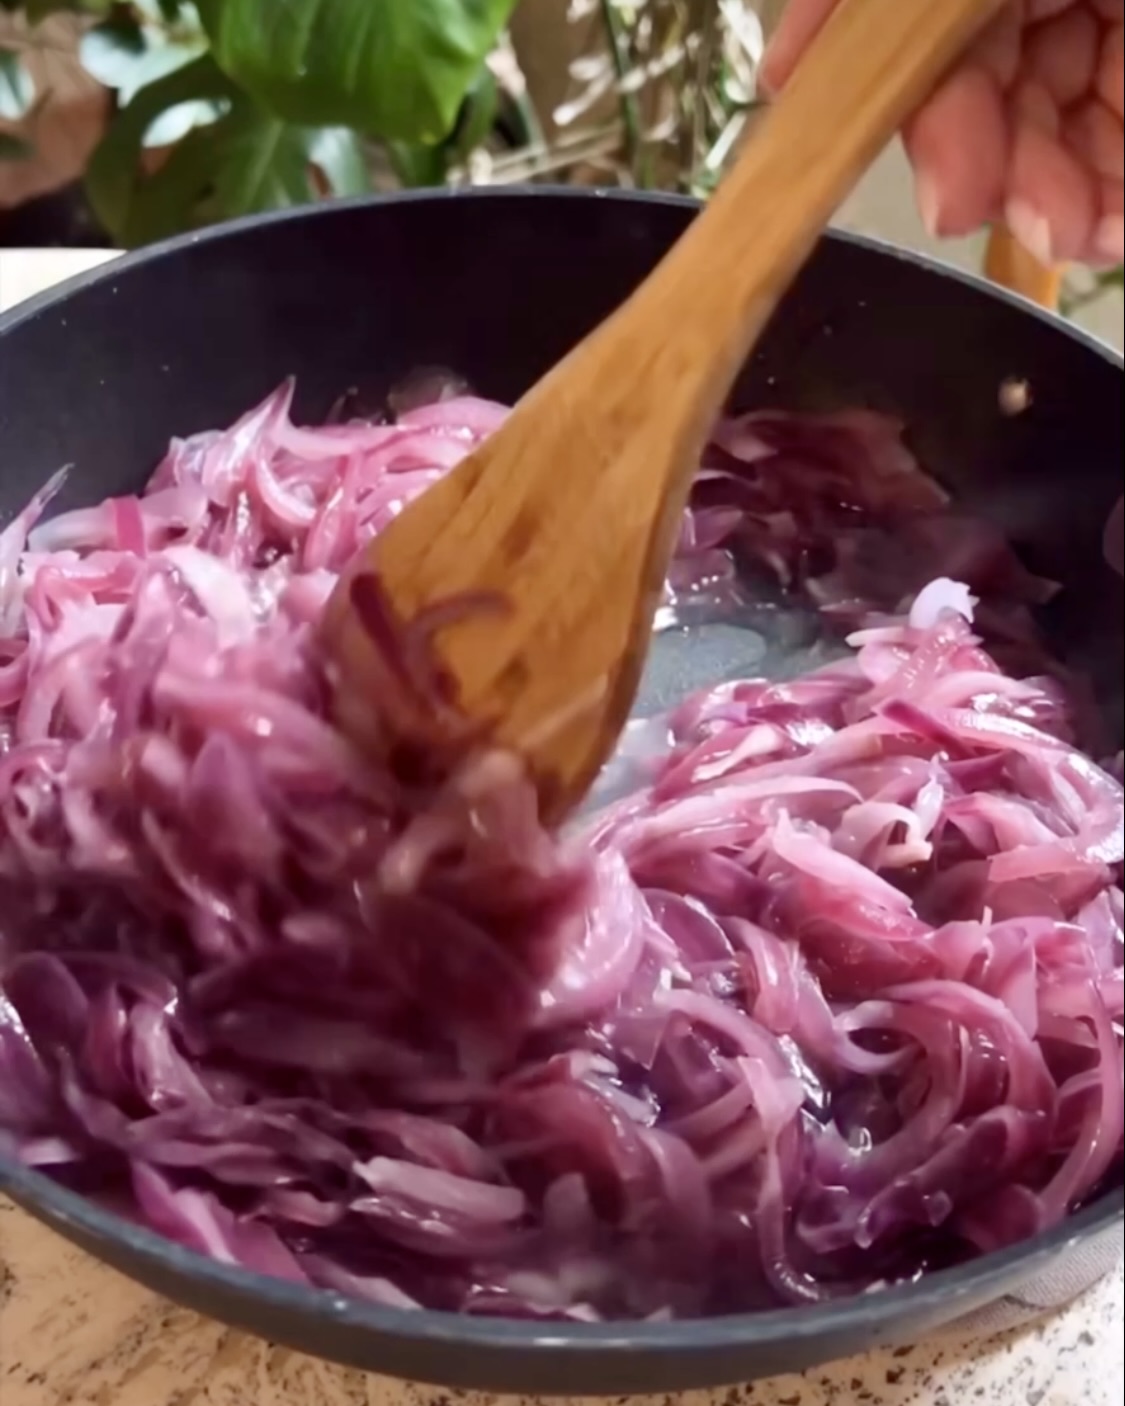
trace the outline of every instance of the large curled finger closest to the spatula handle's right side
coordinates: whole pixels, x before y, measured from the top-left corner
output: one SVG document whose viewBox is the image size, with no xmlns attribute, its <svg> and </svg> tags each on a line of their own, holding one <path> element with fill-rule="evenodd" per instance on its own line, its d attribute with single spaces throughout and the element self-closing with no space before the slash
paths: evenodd
<svg viewBox="0 0 1125 1406">
<path fill-rule="evenodd" d="M 1000 89 L 976 67 L 958 69 L 907 124 L 918 209 L 935 238 L 968 235 L 1004 193 L 1008 128 Z"/>
</svg>

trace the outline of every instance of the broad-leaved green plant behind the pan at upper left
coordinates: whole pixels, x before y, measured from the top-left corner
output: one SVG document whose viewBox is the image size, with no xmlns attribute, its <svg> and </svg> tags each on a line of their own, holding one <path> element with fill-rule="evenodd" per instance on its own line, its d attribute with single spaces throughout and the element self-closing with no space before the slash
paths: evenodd
<svg viewBox="0 0 1125 1406">
<path fill-rule="evenodd" d="M 134 246 L 235 215 L 357 194 L 378 170 L 442 181 L 503 94 L 488 67 L 516 0 L 0 0 L 86 28 L 117 111 L 87 172 L 94 214 Z M 0 48 L 0 118 L 35 94 Z M 17 145 L 18 142 L 18 145 Z M 0 132 L 0 159 L 25 155 Z"/>
</svg>

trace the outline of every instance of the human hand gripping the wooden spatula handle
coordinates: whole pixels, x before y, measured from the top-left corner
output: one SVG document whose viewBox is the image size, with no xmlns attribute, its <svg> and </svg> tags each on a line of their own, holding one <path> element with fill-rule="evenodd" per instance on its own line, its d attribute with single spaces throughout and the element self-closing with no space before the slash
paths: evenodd
<svg viewBox="0 0 1125 1406">
<path fill-rule="evenodd" d="M 789 0 L 766 91 L 837 4 Z M 1125 0 L 1012 0 L 903 132 L 931 235 L 1003 221 L 1045 264 L 1122 262 L 1122 21 Z"/>
</svg>

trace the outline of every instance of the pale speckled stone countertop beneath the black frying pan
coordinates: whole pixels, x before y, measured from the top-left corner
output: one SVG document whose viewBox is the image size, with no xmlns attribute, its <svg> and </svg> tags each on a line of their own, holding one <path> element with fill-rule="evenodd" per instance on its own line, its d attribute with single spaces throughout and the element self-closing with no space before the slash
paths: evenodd
<svg viewBox="0 0 1125 1406">
<path fill-rule="evenodd" d="M 108 257 L 0 250 L 0 311 Z M 676 1406 L 1121 1406 L 1125 1263 L 1070 1309 Z M 177 1309 L 0 1199 L 0 1406 L 484 1406 L 342 1371 Z M 657 1399 L 658 1400 L 658 1399 Z M 516 1398 L 495 1406 L 520 1406 Z M 626 1406 L 622 1399 L 616 1406 Z"/>
</svg>

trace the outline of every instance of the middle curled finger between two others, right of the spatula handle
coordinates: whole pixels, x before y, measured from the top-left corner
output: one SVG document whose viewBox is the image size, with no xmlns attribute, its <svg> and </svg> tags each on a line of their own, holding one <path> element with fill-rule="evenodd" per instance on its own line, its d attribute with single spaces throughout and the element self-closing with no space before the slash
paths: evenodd
<svg viewBox="0 0 1125 1406">
<path fill-rule="evenodd" d="M 1015 131 L 1004 217 L 1043 264 L 1088 254 L 1098 218 L 1097 188 L 1060 141 L 1021 122 Z"/>
</svg>

